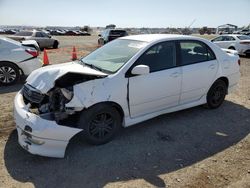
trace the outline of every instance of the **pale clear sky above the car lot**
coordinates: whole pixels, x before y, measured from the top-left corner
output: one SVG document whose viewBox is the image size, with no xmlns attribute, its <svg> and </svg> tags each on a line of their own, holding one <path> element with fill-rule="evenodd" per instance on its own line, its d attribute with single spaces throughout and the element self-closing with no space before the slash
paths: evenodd
<svg viewBox="0 0 250 188">
<path fill-rule="evenodd" d="M 0 25 L 217 27 L 250 24 L 250 0 L 0 0 Z"/>
</svg>

